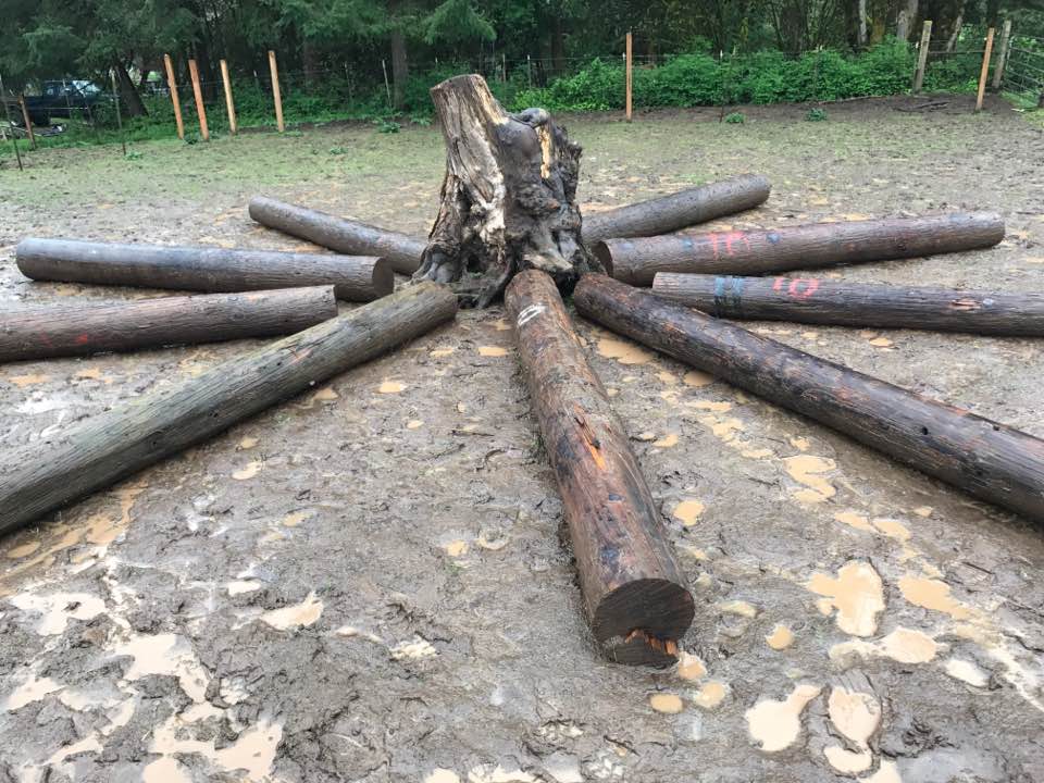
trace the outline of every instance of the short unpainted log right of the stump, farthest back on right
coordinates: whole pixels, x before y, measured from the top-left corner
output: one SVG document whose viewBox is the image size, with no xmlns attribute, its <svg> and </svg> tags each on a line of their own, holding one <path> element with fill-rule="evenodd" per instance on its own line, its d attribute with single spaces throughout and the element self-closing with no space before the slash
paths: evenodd
<svg viewBox="0 0 1044 783">
<path fill-rule="evenodd" d="M 772 186 L 763 176 L 744 174 L 670 196 L 639 201 L 584 217 L 584 241 L 648 237 L 707 223 L 765 203 Z"/>
</svg>

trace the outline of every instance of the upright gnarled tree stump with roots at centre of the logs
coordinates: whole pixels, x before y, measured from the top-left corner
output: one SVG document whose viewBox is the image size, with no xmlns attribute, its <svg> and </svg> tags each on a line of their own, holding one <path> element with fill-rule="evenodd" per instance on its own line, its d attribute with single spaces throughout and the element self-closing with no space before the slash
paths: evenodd
<svg viewBox="0 0 1044 783">
<path fill-rule="evenodd" d="M 562 290 L 600 270 L 581 243 L 581 148 L 543 109 L 508 114 L 482 76 L 432 88 L 446 140 L 438 217 L 419 279 L 453 285 L 461 303 L 486 307 L 525 269 Z"/>
</svg>

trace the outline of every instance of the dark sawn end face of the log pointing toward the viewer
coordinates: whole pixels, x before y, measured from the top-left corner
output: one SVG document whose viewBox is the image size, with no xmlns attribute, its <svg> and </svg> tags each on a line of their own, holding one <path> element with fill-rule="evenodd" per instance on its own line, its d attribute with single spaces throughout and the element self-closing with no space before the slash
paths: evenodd
<svg viewBox="0 0 1044 783">
<path fill-rule="evenodd" d="M 692 594 L 678 582 L 643 579 L 607 593 L 592 618 L 595 638 L 620 663 L 667 666 L 696 612 Z"/>
</svg>

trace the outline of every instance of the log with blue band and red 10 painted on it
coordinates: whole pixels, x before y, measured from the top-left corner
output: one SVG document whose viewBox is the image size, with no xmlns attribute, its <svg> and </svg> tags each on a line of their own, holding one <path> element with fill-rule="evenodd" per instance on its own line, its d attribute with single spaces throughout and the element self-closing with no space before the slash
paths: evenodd
<svg viewBox="0 0 1044 783">
<path fill-rule="evenodd" d="M 660 272 L 652 293 L 728 319 L 1044 336 L 1044 294 Z"/>
</svg>

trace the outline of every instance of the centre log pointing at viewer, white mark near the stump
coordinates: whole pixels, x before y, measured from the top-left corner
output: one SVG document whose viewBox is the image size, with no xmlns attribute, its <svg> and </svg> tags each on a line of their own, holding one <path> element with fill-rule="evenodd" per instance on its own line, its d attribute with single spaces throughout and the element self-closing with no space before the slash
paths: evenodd
<svg viewBox="0 0 1044 783">
<path fill-rule="evenodd" d="M 530 270 L 505 297 L 566 509 L 592 632 L 621 663 L 671 662 L 693 621 L 685 576 L 555 282 Z"/>
</svg>

